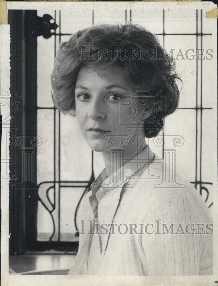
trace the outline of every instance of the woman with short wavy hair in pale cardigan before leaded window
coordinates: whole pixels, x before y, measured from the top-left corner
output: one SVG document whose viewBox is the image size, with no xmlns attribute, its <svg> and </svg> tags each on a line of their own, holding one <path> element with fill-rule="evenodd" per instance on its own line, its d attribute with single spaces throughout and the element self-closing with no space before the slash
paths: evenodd
<svg viewBox="0 0 218 286">
<path fill-rule="evenodd" d="M 60 45 L 53 102 L 76 115 L 105 163 L 80 205 L 69 274 L 212 275 L 209 210 L 145 140 L 176 110 L 178 79 L 173 59 L 139 25 L 94 26 Z"/>
</svg>

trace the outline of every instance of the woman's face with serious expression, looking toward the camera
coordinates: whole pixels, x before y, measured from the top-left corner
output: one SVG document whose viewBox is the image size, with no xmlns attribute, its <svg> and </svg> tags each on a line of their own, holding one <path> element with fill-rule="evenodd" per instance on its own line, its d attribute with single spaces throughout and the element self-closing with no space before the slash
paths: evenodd
<svg viewBox="0 0 218 286">
<path fill-rule="evenodd" d="M 134 92 L 119 67 L 107 72 L 107 75 L 99 75 L 94 69 L 81 68 L 75 87 L 76 116 L 82 134 L 93 151 L 109 151 L 102 144 L 103 136 L 112 138 L 113 148 L 121 147 L 122 137 L 135 136 L 134 132 L 127 130 L 129 112 L 120 111 L 123 94 L 133 96 Z M 139 108 L 139 116 L 143 116 L 143 111 L 143 107 Z M 143 128 L 137 128 L 137 133 L 138 136 L 144 136 Z"/>
</svg>

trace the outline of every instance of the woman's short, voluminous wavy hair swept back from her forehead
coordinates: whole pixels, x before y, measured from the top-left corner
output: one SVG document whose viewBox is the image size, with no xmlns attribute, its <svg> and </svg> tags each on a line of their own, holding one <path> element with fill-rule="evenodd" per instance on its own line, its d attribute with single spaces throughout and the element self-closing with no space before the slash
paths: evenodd
<svg viewBox="0 0 218 286">
<path fill-rule="evenodd" d="M 112 54 L 113 51 L 113 54 Z M 126 80 L 136 90 L 159 93 L 163 101 L 156 109 L 154 126 L 145 126 L 145 137 L 156 136 L 163 119 L 178 107 L 180 80 L 175 60 L 162 49 L 157 37 L 140 25 L 97 25 L 71 35 L 62 42 L 51 75 L 52 99 L 55 107 L 75 115 L 75 85 L 81 67 L 95 66 L 110 70 L 123 69 Z M 103 64 L 104 63 L 104 64 Z"/>
</svg>

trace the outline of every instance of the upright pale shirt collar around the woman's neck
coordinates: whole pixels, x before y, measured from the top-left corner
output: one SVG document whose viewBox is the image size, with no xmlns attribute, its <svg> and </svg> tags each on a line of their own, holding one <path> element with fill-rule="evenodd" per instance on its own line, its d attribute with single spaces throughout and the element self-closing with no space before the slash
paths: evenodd
<svg viewBox="0 0 218 286">
<path fill-rule="evenodd" d="M 143 166 L 147 165 L 154 159 L 154 153 L 147 145 L 139 154 L 133 159 L 126 162 L 117 172 L 108 176 L 106 169 L 99 174 L 99 176 L 91 184 L 92 194 L 96 193 L 99 188 L 108 192 L 116 187 L 122 188 L 125 183 L 129 181 L 129 177 L 135 174 Z M 116 179 L 115 179 L 116 178 Z"/>
</svg>

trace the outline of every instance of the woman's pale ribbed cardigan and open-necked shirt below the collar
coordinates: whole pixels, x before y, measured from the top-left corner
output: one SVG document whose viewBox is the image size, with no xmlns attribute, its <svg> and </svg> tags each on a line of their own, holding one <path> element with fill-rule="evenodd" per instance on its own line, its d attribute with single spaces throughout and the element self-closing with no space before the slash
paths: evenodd
<svg viewBox="0 0 218 286">
<path fill-rule="evenodd" d="M 120 225 L 120 233 L 114 225 L 115 234 L 109 231 L 101 234 L 101 251 L 99 235 L 90 234 L 89 227 L 83 228 L 85 234 L 80 234 L 79 252 L 69 275 L 213 275 L 213 235 L 206 228 L 212 223 L 209 209 L 197 190 L 178 174 L 176 181 L 184 188 L 172 188 L 171 182 L 164 188 L 157 188 L 163 180 L 162 166 L 161 158 L 155 156 L 138 180 L 130 178 L 128 184 L 134 181 L 133 188 L 125 188 L 121 197 L 120 187 L 105 193 L 98 204 L 98 221 L 100 225 Z M 84 226 L 90 225 L 89 220 L 93 221 L 90 195 L 91 192 L 85 195 L 79 209 L 80 232 L 80 221 L 85 221 Z M 193 225 L 186 231 L 190 223 Z M 126 231 L 124 224 L 128 231 L 121 234 Z M 136 225 L 136 233 L 130 234 L 130 224 L 132 228 Z M 174 234 L 171 230 L 168 234 L 166 229 L 163 231 L 163 224 L 167 229 L 174 224 Z M 199 225 L 198 231 L 197 224 L 204 226 Z M 154 232 L 146 233 L 145 225 L 148 233 Z M 195 229 L 194 234 L 187 233 L 192 233 L 191 229 Z M 205 233 L 197 234 L 197 231 Z"/>
</svg>

